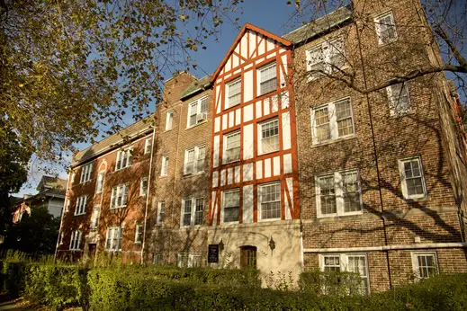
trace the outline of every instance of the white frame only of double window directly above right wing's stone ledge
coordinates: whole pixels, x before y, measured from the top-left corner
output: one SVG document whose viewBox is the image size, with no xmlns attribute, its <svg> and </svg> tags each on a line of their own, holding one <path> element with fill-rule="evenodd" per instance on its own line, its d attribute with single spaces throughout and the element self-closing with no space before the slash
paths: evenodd
<svg viewBox="0 0 467 311">
<path fill-rule="evenodd" d="M 345 204 L 344 204 L 344 187 L 343 187 L 343 179 L 342 175 L 345 173 L 356 173 L 357 183 L 358 183 L 358 193 L 360 196 L 360 210 L 356 211 L 345 211 Z M 321 191 L 319 186 L 319 179 L 328 176 L 334 177 L 334 193 L 336 196 L 336 213 L 332 214 L 322 214 L 321 213 Z M 364 213 L 364 204 L 362 200 L 362 182 L 360 178 L 360 171 L 359 170 L 346 170 L 346 171 L 339 171 L 333 173 L 323 173 L 319 174 L 315 177 L 315 193 L 316 193 L 316 212 L 317 218 L 329 218 L 329 217 L 336 217 L 336 216 L 347 216 L 347 215 L 361 215 Z"/>
</svg>

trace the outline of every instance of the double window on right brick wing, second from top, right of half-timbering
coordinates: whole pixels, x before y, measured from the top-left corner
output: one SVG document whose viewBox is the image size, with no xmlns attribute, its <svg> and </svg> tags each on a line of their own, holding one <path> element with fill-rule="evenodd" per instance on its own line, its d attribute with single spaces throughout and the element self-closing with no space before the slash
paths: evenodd
<svg viewBox="0 0 467 311">
<path fill-rule="evenodd" d="M 355 134 L 350 98 L 328 102 L 311 110 L 313 145 Z"/>
</svg>

